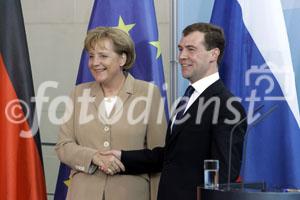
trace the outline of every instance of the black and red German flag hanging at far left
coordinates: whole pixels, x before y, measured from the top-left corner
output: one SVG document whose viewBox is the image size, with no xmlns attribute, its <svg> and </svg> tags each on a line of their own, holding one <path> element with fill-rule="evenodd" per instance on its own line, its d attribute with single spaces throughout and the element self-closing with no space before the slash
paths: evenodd
<svg viewBox="0 0 300 200">
<path fill-rule="evenodd" d="M 46 199 L 20 0 L 0 0 L 0 199 Z M 35 125 L 35 126 L 34 126 Z"/>
</svg>

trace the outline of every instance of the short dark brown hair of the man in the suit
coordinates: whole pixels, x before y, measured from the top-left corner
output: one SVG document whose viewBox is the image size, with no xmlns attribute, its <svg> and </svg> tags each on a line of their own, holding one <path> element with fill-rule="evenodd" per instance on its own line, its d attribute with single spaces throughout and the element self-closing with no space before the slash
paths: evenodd
<svg viewBox="0 0 300 200">
<path fill-rule="evenodd" d="M 187 26 L 183 31 L 183 36 L 187 36 L 192 32 L 204 33 L 204 46 L 206 50 L 211 50 L 213 48 L 220 49 L 220 55 L 218 57 L 218 64 L 220 64 L 225 48 L 225 36 L 223 29 L 208 23 L 194 23 Z"/>
</svg>

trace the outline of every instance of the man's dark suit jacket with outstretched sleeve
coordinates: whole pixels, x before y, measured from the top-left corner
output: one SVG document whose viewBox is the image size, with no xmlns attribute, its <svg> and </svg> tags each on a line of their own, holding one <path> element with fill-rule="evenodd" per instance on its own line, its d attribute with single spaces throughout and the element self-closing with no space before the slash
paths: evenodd
<svg viewBox="0 0 300 200">
<path fill-rule="evenodd" d="M 240 102 L 232 101 L 232 98 L 233 95 L 221 80 L 213 83 L 186 111 L 185 115 L 190 115 L 189 119 L 177 125 L 172 134 L 169 122 L 165 147 L 122 151 L 121 161 L 125 165 L 126 173 L 161 171 L 157 198 L 159 200 L 195 200 L 196 186 L 204 182 L 205 159 L 219 160 L 220 182 L 226 182 L 229 135 L 233 126 L 239 122 L 236 120 L 228 124 L 226 119 L 240 117 L 241 120 L 246 116 Z M 237 113 L 239 116 L 236 116 Z M 232 180 L 239 175 L 246 129 L 245 121 L 233 134 Z"/>
</svg>

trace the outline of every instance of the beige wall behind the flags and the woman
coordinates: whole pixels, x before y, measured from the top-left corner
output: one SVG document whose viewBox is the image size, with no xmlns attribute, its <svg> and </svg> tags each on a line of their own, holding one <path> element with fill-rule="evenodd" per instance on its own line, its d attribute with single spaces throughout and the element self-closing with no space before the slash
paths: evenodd
<svg viewBox="0 0 300 200">
<path fill-rule="evenodd" d="M 21 0 L 31 67 L 37 93 L 44 81 L 57 81 L 49 88 L 50 101 L 67 95 L 74 86 L 92 0 Z M 170 0 L 155 0 L 166 80 L 169 80 Z M 169 82 L 169 81 L 168 81 Z M 55 143 L 58 126 L 49 122 L 49 103 L 44 103 L 40 133 L 44 143 Z M 56 114 L 60 116 L 61 109 Z M 47 192 L 54 193 L 59 161 L 53 146 L 43 145 Z M 49 199 L 53 197 L 48 196 Z"/>
</svg>

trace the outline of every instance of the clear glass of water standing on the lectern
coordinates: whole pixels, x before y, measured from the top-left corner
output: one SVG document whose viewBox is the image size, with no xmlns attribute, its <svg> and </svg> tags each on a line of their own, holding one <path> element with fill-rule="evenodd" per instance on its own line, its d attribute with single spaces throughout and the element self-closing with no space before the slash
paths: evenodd
<svg viewBox="0 0 300 200">
<path fill-rule="evenodd" d="M 219 188 L 219 161 L 204 160 L 204 188 Z"/>
</svg>

